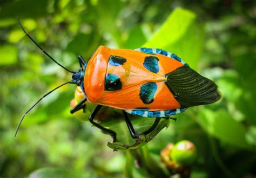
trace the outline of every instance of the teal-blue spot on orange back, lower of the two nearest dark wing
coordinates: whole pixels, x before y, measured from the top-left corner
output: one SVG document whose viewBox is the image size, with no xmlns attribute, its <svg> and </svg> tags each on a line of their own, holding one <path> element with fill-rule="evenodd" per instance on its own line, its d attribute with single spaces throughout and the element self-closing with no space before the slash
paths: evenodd
<svg viewBox="0 0 256 178">
<path fill-rule="evenodd" d="M 144 104 L 151 104 L 154 101 L 154 94 L 157 91 L 157 84 L 154 82 L 140 86 L 139 98 Z"/>
</svg>

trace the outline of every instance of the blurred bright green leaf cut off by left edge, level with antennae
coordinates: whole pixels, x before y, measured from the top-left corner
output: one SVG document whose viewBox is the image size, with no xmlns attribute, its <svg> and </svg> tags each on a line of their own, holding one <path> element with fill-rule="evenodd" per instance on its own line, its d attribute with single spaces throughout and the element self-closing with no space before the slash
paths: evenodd
<svg viewBox="0 0 256 178">
<path fill-rule="evenodd" d="M 0 46 L 0 65 L 10 65 L 17 61 L 17 47 L 5 44 Z"/>
</svg>

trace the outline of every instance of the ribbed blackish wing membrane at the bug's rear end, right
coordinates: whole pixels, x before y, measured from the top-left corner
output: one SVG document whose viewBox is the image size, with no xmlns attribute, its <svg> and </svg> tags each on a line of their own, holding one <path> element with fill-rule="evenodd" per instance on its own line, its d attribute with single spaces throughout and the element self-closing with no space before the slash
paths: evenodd
<svg viewBox="0 0 256 178">
<path fill-rule="evenodd" d="M 181 107 L 211 104 L 221 98 L 218 86 L 188 66 L 166 74 L 166 84 Z"/>
</svg>

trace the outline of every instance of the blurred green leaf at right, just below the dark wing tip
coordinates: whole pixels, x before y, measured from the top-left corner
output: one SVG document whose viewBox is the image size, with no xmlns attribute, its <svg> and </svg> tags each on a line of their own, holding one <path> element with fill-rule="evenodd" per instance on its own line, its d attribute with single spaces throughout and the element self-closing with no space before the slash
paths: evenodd
<svg viewBox="0 0 256 178">
<path fill-rule="evenodd" d="M 245 127 L 235 121 L 225 110 L 212 111 L 204 108 L 199 115 L 197 121 L 208 134 L 230 145 L 251 149 L 245 138 Z"/>
</svg>

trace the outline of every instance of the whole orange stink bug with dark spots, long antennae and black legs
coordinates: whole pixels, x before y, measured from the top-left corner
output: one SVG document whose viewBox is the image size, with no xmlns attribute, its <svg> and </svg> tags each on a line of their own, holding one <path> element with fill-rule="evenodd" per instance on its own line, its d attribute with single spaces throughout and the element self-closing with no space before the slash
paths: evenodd
<svg viewBox="0 0 256 178">
<path fill-rule="evenodd" d="M 26 36 L 57 63 L 26 33 L 21 22 L 19 24 Z M 78 72 L 70 71 L 57 63 L 73 73 L 71 81 L 65 84 L 76 84 L 84 93 L 84 98 L 70 112 L 75 113 L 79 109 L 84 109 L 86 101 L 98 104 L 89 121 L 110 134 L 113 142 L 116 141 L 116 132 L 93 121 L 102 106 L 122 109 L 131 136 L 137 139 L 142 134 L 152 132 L 160 118 L 170 118 L 171 115 L 183 112 L 188 107 L 211 104 L 220 99 L 217 85 L 213 81 L 191 69 L 175 54 L 161 49 L 143 47 L 125 50 L 99 46 L 87 62 L 81 56 L 78 56 L 78 59 Z M 65 84 L 45 94 L 25 114 L 46 95 Z M 156 118 L 156 121 L 147 131 L 139 134 L 134 131 L 127 113 Z"/>
</svg>

